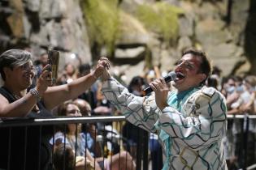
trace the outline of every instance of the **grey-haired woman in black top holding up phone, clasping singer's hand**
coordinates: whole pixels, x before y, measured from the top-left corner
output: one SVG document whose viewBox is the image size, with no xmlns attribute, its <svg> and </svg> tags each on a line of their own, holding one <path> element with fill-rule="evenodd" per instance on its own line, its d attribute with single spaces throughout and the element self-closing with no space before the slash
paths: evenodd
<svg viewBox="0 0 256 170">
<path fill-rule="evenodd" d="M 109 68 L 107 59 L 98 62 L 96 69 L 72 83 L 50 87 L 51 72 L 46 65 L 36 87 L 27 91 L 33 82 L 35 70 L 32 55 L 20 49 L 11 49 L 0 56 L 0 74 L 4 81 L 0 88 L 0 117 L 50 117 L 50 109 L 79 96 Z M 50 126 L 0 128 L 0 168 L 50 169 Z M 40 144 L 38 144 L 40 143 Z"/>
</svg>

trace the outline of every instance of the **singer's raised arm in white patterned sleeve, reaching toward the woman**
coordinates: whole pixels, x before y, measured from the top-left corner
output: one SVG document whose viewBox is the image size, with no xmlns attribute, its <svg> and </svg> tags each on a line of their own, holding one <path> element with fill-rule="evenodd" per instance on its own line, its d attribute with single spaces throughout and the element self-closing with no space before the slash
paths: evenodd
<svg viewBox="0 0 256 170">
<path fill-rule="evenodd" d="M 155 131 L 154 123 L 158 120 L 160 110 L 155 104 L 154 96 L 134 96 L 114 78 L 103 83 L 102 92 L 133 125 L 151 132 Z"/>
</svg>

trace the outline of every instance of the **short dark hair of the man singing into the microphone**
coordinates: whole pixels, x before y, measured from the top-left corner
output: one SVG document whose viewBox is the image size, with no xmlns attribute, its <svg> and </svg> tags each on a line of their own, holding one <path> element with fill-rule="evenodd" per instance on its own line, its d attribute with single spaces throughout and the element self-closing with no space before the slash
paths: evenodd
<svg viewBox="0 0 256 170">
<path fill-rule="evenodd" d="M 198 71 L 199 71 L 199 73 L 206 74 L 206 79 L 208 79 L 208 77 L 211 74 L 211 66 L 210 66 L 210 61 L 209 61 L 208 57 L 206 56 L 206 53 L 204 53 L 201 50 L 197 50 L 197 49 L 186 49 L 182 53 L 182 56 L 184 56 L 185 54 L 188 54 L 188 53 L 192 54 L 195 57 L 201 58 L 201 65 L 200 65 L 200 68 Z M 201 84 L 205 84 L 206 79 L 202 80 Z"/>
</svg>

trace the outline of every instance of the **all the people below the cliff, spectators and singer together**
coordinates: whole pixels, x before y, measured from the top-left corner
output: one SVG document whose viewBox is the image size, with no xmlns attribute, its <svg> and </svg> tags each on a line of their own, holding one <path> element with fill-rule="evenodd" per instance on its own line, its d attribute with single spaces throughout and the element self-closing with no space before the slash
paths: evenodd
<svg viewBox="0 0 256 170">
<path fill-rule="evenodd" d="M 27 137 L 23 128 L 13 128 L 11 134 L 7 128 L 1 128 L 2 135 L 9 138 L 1 140 L 0 168 L 51 169 L 54 164 L 58 170 L 63 169 L 66 160 L 65 169 L 136 169 L 140 129 L 150 132 L 153 170 L 237 169 L 245 164 L 245 148 L 241 147 L 245 121 L 228 119 L 227 115 L 256 113 L 256 76 L 222 78 L 218 67 L 211 70 L 205 53 L 189 49 L 176 63 L 176 79 L 172 83 L 165 83 L 157 66 L 135 76 L 128 84 L 119 83 L 121 78 L 109 73 L 111 63 L 102 57 L 93 68 L 89 64 L 76 68 L 67 63 L 53 85 L 47 79 L 51 74 L 47 57 L 47 53 L 41 54 L 34 66 L 32 54 L 27 51 L 11 49 L 1 54 L 4 83 L 0 88 L 0 117 L 124 114 L 128 122 L 118 133 L 128 144 L 125 151 L 119 150 L 109 159 L 96 142 L 100 124 L 70 124 L 57 129 L 51 125 L 42 129 L 28 127 Z M 146 86 L 153 89 L 153 95 L 145 94 Z M 247 164 L 254 164 L 256 122 L 249 120 L 248 125 Z M 20 159 L 24 154 L 25 158 Z M 67 157 L 63 159 L 63 155 Z"/>
</svg>

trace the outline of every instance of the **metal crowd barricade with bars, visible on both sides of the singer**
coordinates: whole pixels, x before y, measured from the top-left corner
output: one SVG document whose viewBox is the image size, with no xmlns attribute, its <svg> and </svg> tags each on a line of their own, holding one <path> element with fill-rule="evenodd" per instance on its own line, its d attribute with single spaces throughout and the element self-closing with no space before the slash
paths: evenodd
<svg viewBox="0 0 256 170">
<path fill-rule="evenodd" d="M 241 160 L 239 160 L 241 162 L 240 166 L 241 169 L 254 169 L 256 167 L 256 160 L 254 161 L 254 163 L 252 164 L 251 161 L 248 161 L 249 159 L 251 159 L 249 157 L 249 153 L 248 151 L 251 151 L 253 148 L 252 147 L 248 147 L 248 142 L 249 142 L 249 122 L 252 120 L 256 120 L 256 115 L 228 115 L 228 120 L 241 120 L 241 122 L 243 122 L 243 125 L 241 126 L 241 135 L 239 140 L 241 141 Z M 113 159 L 113 153 L 108 152 L 107 153 L 107 143 L 108 141 L 115 141 L 116 144 L 119 146 L 119 150 L 118 151 L 128 151 L 128 142 L 127 142 L 127 138 L 124 138 L 123 134 L 122 134 L 122 128 L 124 123 L 120 123 L 120 122 L 124 122 L 125 121 L 125 117 L 124 116 L 116 116 L 116 117 L 50 117 L 50 118 L 2 118 L 0 120 L 0 130 L 5 130 L 5 133 L 2 134 L 2 138 L 0 141 L 2 141 L 4 138 L 7 139 L 7 141 L 9 143 L 7 143 L 7 146 L 2 146 L 2 148 L 5 148 L 5 151 L 8 151 L 8 154 L 5 155 L 5 159 L 2 159 L 2 157 L 0 157 L 0 159 L 2 161 L 7 161 L 6 164 L 6 168 L 3 169 L 13 169 L 13 162 L 10 162 L 12 156 L 11 154 L 14 154 L 15 152 L 13 152 L 13 149 L 18 148 L 19 151 L 22 151 L 22 153 L 24 154 L 22 157 L 20 157 L 20 159 L 22 161 L 22 164 L 19 163 L 15 163 L 15 164 L 19 164 L 20 169 L 25 169 L 25 170 L 29 170 L 28 168 L 28 164 L 33 164 L 31 159 L 28 159 L 28 155 L 31 155 L 31 153 L 26 152 L 25 148 L 31 147 L 32 141 L 31 141 L 31 137 L 33 137 L 34 139 L 34 143 L 33 145 L 36 146 L 37 145 L 37 149 L 39 151 L 35 151 L 35 153 L 37 153 L 38 155 L 34 155 L 35 158 L 37 158 L 38 162 L 37 162 L 37 168 L 35 169 L 42 169 L 40 164 L 41 164 L 41 157 L 43 157 L 43 155 L 41 154 L 41 140 L 43 140 L 44 138 L 42 138 L 42 133 L 44 133 L 44 130 L 46 129 L 46 127 L 51 127 L 51 126 L 57 126 L 57 125 L 65 125 L 65 129 L 67 132 L 67 125 L 68 124 L 76 124 L 76 128 L 78 124 L 97 124 L 97 123 L 102 123 L 102 129 L 101 129 L 101 134 L 94 134 L 94 138 L 97 138 L 97 142 L 100 143 L 101 147 L 101 153 L 103 156 L 103 163 L 104 163 L 104 159 L 109 159 L 110 160 L 110 167 L 111 167 L 111 163 L 112 163 L 112 159 Z M 113 124 L 113 122 L 116 122 Z M 117 123 L 119 122 L 119 123 Z M 115 127 L 115 129 L 117 129 L 119 134 L 116 134 L 115 131 L 113 129 L 107 129 L 106 124 L 111 124 L 112 127 Z M 15 132 L 15 130 L 18 130 L 18 132 L 20 132 L 20 136 L 24 136 L 23 138 L 12 138 L 12 135 L 14 135 L 13 133 Z M 20 130 L 20 131 L 19 131 Z M 34 133 L 33 130 L 36 130 L 36 132 L 38 133 Z M 100 130 L 98 130 L 100 131 Z M 51 132 L 51 136 L 53 137 L 53 141 L 54 141 L 54 130 L 52 130 Z M 110 136 L 107 136 L 107 134 L 110 133 Z M 132 161 L 136 162 L 136 170 L 148 170 L 150 169 L 149 166 L 149 148 L 148 148 L 148 143 L 149 143 L 149 134 L 147 132 L 145 132 L 145 130 L 141 130 L 138 129 L 137 130 L 138 133 L 138 138 L 137 138 L 137 147 L 136 147 L 136 154 L 135 156 L 132 157 Z M 37 137 L 33 136 L 33 135 L 37 135 Z M 64 133 L 64 135 L 66 135 L 66 133 Z M 20 137 L 18 135 L 18 137 Z M 117 136 L 119 136 L 119 138 L 116 138 Z M 255 134 L 254 134 L 255 136 Z M 28 138 L 27 138 L 28 137 Z M 77 138 L 77 137 L 76 137 Z M 15 139 L 16 141 L 12 141 L 13 139 Z M 66 140 L 66 137 L 64 136 L 64 140 Z M 47 141 L 46 141 L 47 142 Z M 20 143 L 20 145 L 15 146 L 15 143 Z M 19 149 L 19 146 L 24 145 L 23 150 Z M 76 142 L 76 145 L 78 145 L 78 143 Z M 255 145 L 255 142 L 254 142 Z M 87 146 L 86 146 L 87 147 Z M 113 147 L 114 148 L 114 147 Z M 254 148 L 255 149 L 255 148 Z M 108 150 L 112 150 L 108 148 Z M 2 153 L 2 151 L 1 151 Z M 51 150 L 51 155 L 54 155 L 54 147 Z M 75 151 L 75 155 L 76 155 L 76 151 Z M 131 154 L 132 155 L 132 154 Z M 107 158 L 108 157 L 108 158 Z M 256 157 L 255 157 L 256 158 Z M 119 159 L 121 159 L 121 154 L 119 154 Z M 67 160 L 66 160 L 67 161 Z M 63 163 L 66 162 L 65 161 L 65 157 L 63 157 Z M 54 162 L 54 157 L 51 157 L 51 163 Z M 96 162 L 93 163 L 94 167 Z M 74 161 L 74 165 L 76 165 L 76 158 Z M 52 168 L 53 165 L 51 164 Z M 119 162 L 119 166 L 121 166 L 121 163 Z M 2 167 L 0 167 L 1 169 Z M 86 169 L 86 168 L 85 168 Z M 135 170 L 135 169 L 134 169 Z M 154 170 L 154 169 L 153 169 Z"/>
</svg>

